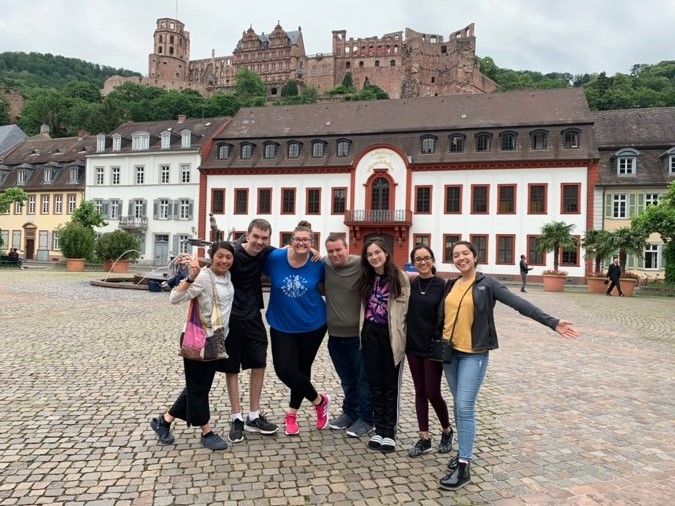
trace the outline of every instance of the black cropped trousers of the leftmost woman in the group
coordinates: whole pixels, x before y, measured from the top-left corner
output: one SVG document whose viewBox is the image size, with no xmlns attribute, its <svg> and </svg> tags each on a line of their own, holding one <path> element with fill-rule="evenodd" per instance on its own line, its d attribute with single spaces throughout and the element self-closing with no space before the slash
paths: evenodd
<svg viewBox="0 0 675 506">
<path fill-rule="evenodd" d="M 188 426 L 202 426 L 209 423 L 211 419 L 209 392 L 216 375 L 217 363 L 217 360 L 201 362 L 183 359 L 185 388 L 169 409 L 171 416 L 185 420 Z"/>
</svg>

